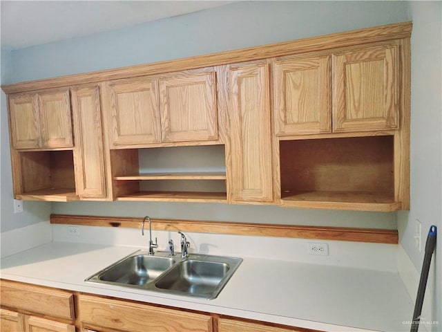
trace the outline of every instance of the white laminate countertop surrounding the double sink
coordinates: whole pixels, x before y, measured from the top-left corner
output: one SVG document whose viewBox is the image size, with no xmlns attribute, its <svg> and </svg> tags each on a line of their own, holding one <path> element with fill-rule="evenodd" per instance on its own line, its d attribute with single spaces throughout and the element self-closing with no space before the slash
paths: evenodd
<svg viewBox="0 0 442 332">
<path fill-rule="evenodd" d="M 385 270 L 237 256 L 242 264 L 212 300 L 84 282 L 137 249 L 53 241 L 1 259 L 0 277 L 322 331 L 410 330 L 412 299 Z"/>
</svg>

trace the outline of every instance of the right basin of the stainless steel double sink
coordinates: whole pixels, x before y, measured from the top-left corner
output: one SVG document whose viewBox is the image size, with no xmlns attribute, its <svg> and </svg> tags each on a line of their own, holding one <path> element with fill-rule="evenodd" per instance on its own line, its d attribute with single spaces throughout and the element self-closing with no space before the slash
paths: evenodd
<svg viewBox="0 0 442 332">
<path fill-rule="evenodd" d="M 204 259 L 204 260 L 202 260 Z M 155 287 L 180 295 L 213 299 L 240 265 L 233 257 L 198 257 L 182 261 L 164 273 Z"/>
</svg>

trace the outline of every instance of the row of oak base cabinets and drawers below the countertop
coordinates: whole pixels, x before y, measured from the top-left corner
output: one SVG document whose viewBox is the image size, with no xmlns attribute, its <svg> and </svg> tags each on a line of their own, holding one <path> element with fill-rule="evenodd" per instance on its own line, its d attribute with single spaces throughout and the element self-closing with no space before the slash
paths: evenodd
<svg viewBox="0 0 442 332">
<path fill-rule="evenodd" d="M 1 332 L 315 332 L 8 280 L 0 291 Z"/>
</svg>

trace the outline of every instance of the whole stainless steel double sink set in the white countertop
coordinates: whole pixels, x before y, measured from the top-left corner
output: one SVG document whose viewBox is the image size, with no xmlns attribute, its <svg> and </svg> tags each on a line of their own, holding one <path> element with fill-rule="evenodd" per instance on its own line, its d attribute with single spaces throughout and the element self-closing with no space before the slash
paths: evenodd
<svg viewBox="0 0 442 332">
<path fill-rule="evenodd" d="M 137 250 L 85 281 L 214 299 L 241 262 L 237 257 L 191 254 L 182 259 Z"/>
</svg>

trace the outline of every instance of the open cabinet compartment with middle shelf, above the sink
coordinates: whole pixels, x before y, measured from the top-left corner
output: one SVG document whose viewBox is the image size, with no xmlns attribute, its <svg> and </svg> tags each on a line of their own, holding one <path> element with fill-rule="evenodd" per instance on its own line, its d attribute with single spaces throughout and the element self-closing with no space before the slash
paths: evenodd
<svg viewBox="0 0 442 332">
<path fill-rule="evenodd" d="M 111 150 L 117 201 L 227 202 L 224 145 Z"/>
</svg>

